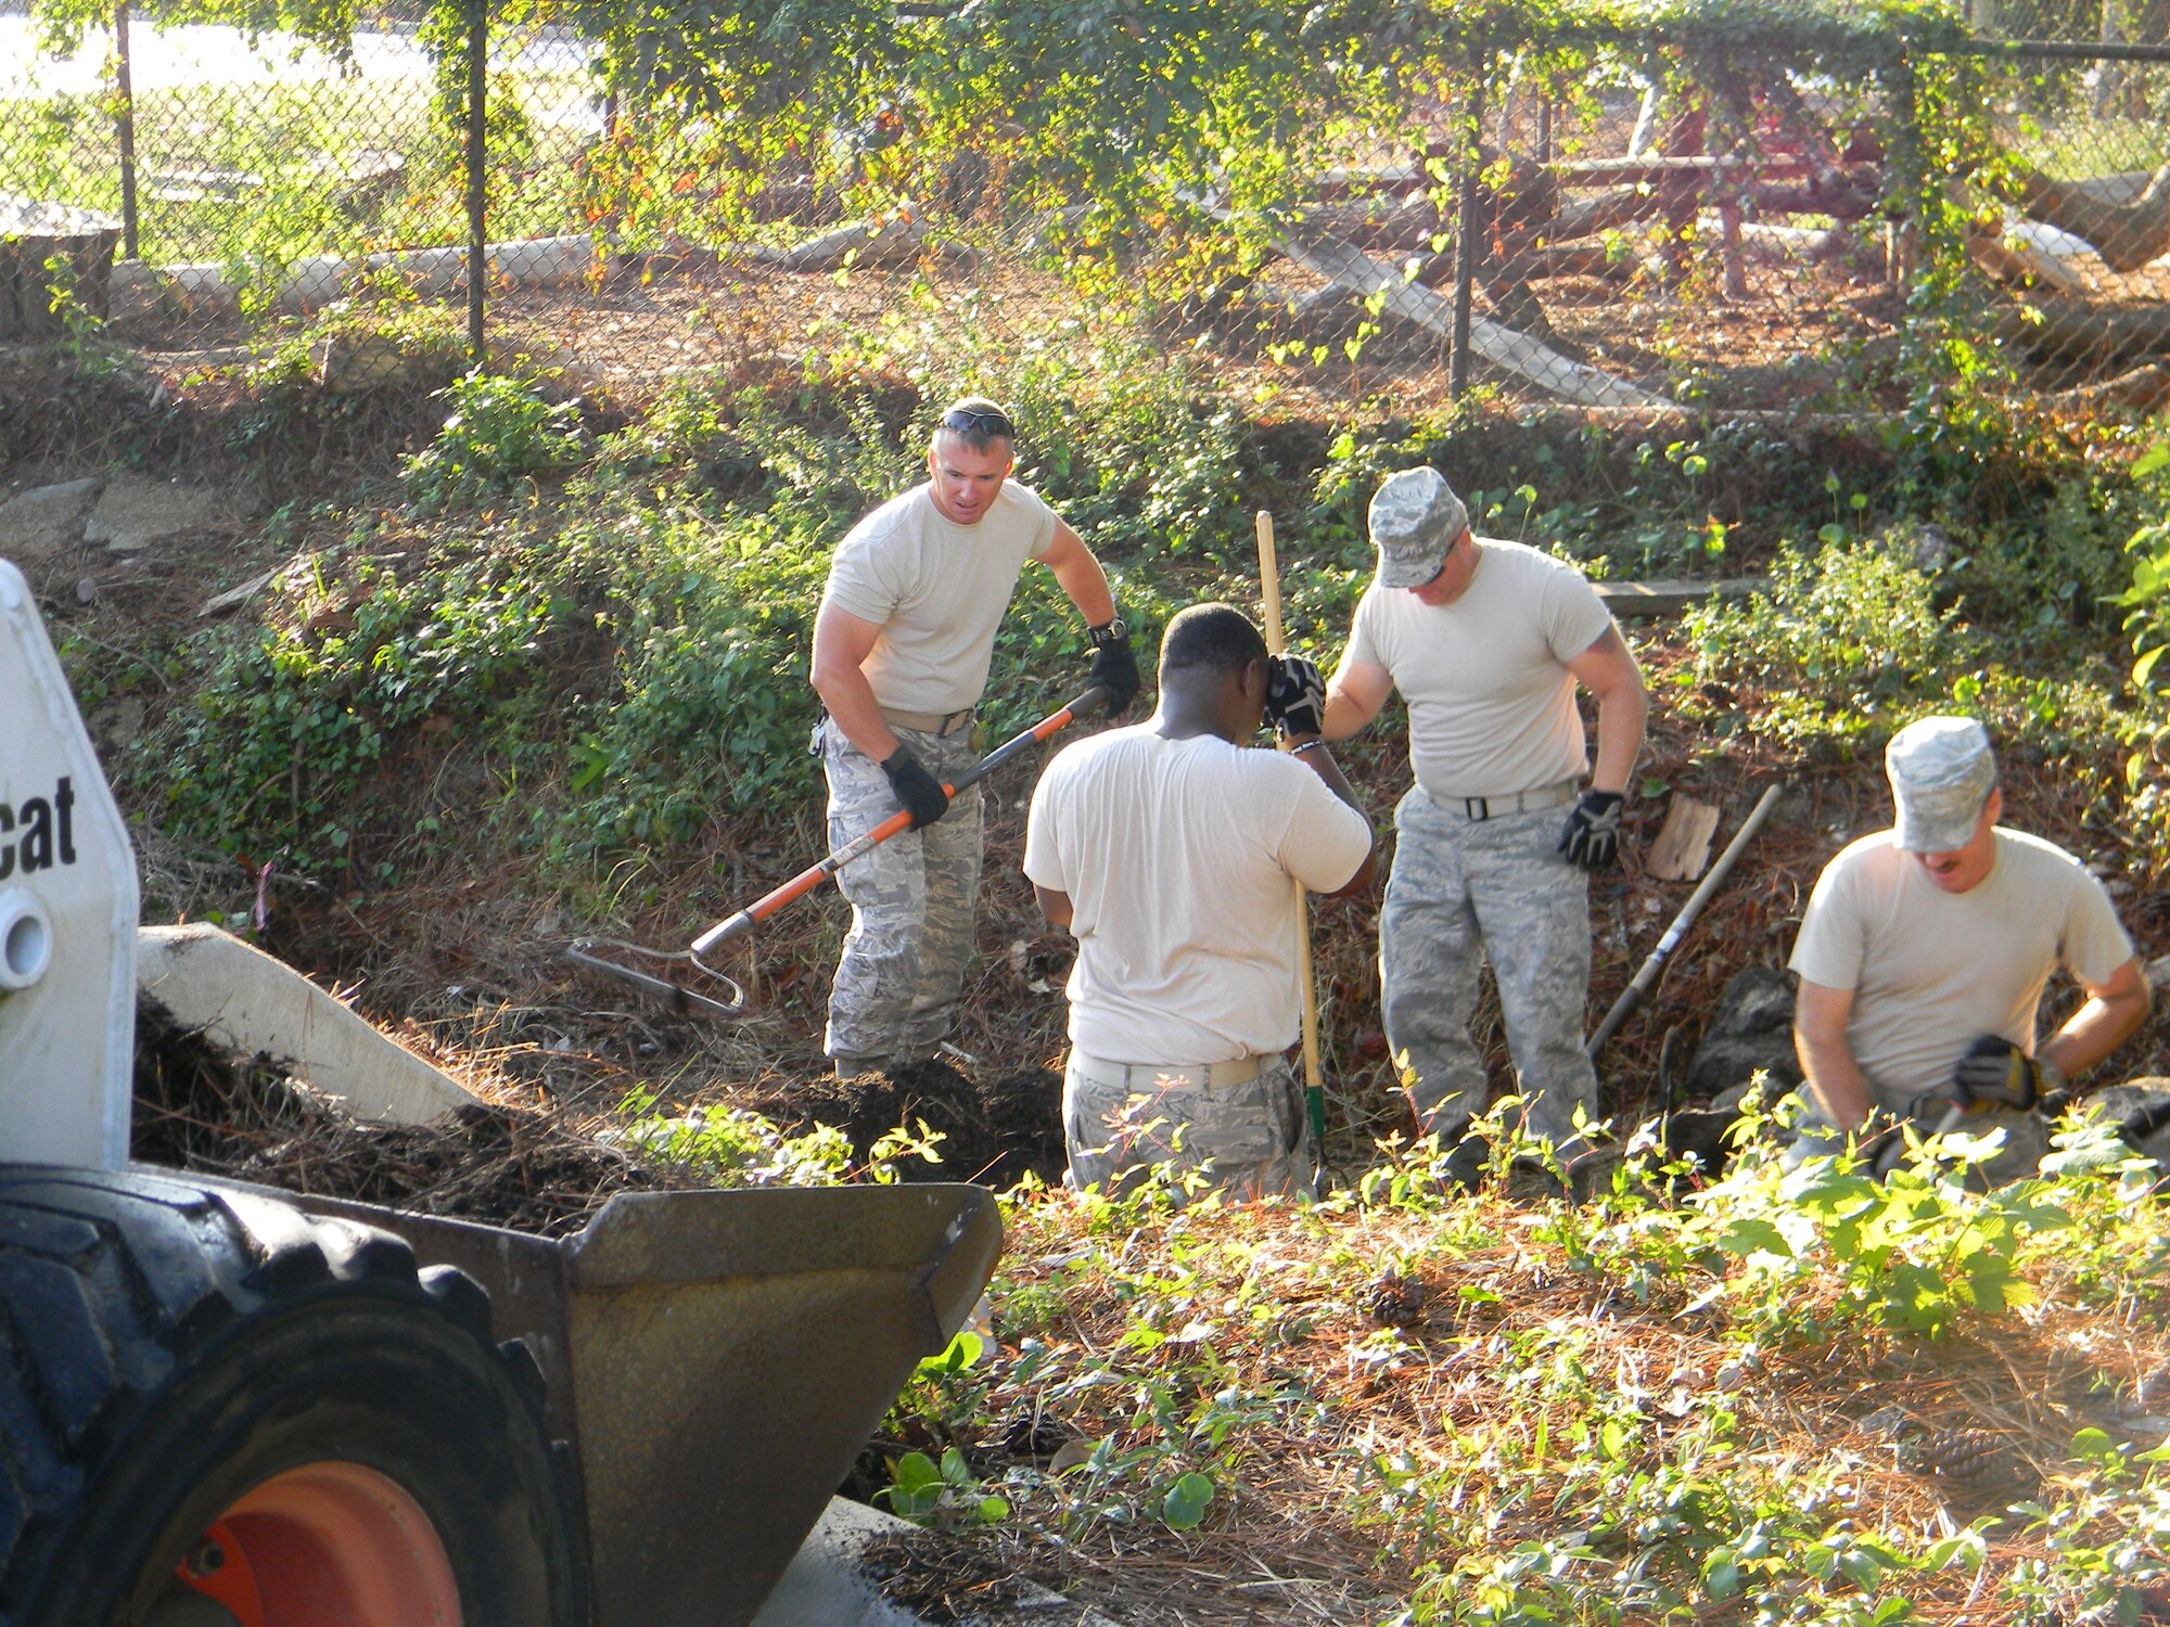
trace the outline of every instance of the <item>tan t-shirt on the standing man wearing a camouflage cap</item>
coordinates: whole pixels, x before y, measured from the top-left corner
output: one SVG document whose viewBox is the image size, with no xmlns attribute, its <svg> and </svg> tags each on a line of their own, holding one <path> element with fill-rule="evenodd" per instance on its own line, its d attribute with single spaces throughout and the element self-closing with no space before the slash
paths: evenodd
<svg viewBox="0 0 2170 1627">
<path fill-rule="evenodd" d="M 1426 796 L 1504 796 L 1588 768 L 1567 662 L 1610 625 L 1575 566 L 1480 536 L 1476 575 L 1452 605 L 1374 581 L 1348 659 L 1384 666 L 1408 701 L 1408 761 Z"/>
</svg>

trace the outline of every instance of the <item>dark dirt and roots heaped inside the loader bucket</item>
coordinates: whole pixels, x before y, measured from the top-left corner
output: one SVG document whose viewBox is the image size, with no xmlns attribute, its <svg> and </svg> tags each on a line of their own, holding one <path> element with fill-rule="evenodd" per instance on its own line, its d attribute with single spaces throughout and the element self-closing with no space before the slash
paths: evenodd
<svg viewBox="0 0 2170 1627">
<path fill-rule="evenodd" d="M 569 1124 L 475 1104 L 427 1126 L 356 1124 L 267 1056 L 237 1059 L 158 1007 L 137 1011 L 141 1163 L 564 1237 L 614 1193 L 699 1184 Z"/>
</svg>

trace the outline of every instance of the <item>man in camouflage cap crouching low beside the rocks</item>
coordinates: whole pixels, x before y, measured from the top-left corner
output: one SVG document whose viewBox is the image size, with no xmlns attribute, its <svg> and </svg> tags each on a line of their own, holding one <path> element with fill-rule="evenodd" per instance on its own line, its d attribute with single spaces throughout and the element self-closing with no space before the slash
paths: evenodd
<svg viewBox="0 0 2170 1627">
<path fill-rule="evenodd" d="M 1929 1130 L 1953 1102 L 2029 1106 L 2148 1015 L 2146 976 L 2103 883 L 2064 848 L 1996 824 L 2005 798 L 1979 722 L 1912 722 L 1884 770 L 1892 829 L 1825 866 L 1792 948 L 1792 1039 L 1808 1076 L 1795 1163 L 1901 1119 Z M 2059 965 L 2088 1000 L 2038 1046 L 2035 1009 Z M 2046 1145 L 2040 1117 L 1994 1122 L 2007 1148 L 1992 1178 L 2022 1174 Z"/>
</svg>

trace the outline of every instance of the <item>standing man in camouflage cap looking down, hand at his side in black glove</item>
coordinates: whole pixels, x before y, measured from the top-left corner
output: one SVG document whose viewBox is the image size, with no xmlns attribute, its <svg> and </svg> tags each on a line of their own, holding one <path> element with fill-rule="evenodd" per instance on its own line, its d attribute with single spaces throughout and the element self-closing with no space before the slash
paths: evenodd
<svg viewBox="0 0 2170 1627">
<path fill-rule="evenodd" d="M 1408 703 L 1417 783 L 1395 809 L 1378 922 L 1387 1043 L 1417 1119 L 1456 1145 L 1484 1111 L 1469 1037 L 1491 961 L 1526 1128 L 1562 1154 L 1575 1113 L 1597 1117 L 1582 1048 L 1591 985 L 1588 870 L 1619 855 L 1621 805 L 1649 701 L 1597 592 L 1565 560 L 1469 531 L 1437 469 L 1391 475 L 1371 499 L 1378 577 L 1356 605 L 1326 696 L 1326 738 L 1363 729 L 1395 690 Z M 1597 696 L 1588 790 L 1575 688 Z"/>
</svg>

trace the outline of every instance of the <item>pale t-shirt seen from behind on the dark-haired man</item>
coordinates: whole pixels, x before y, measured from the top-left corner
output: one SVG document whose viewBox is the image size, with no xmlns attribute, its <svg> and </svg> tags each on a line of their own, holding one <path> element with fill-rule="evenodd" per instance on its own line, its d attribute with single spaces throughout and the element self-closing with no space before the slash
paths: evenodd
<svg viewBox="0 0 2170 1627">
<path fill-rule="evenodd" d="M 1295 896 L 1371 848 L 1300 761 L 1152 722 L 1063 748 L 1033 790 L 1024 874 L 1070 894 L 1070 1043 L 1111 1063 L 1287 1050 L 1302 1022 Z"/>
</svg>

